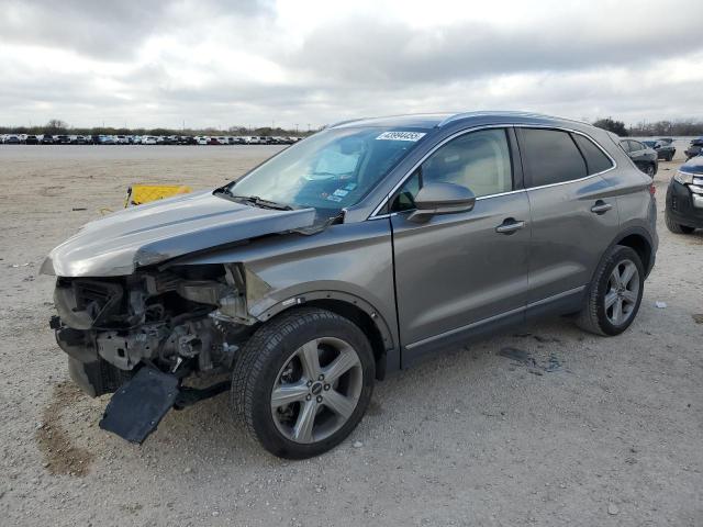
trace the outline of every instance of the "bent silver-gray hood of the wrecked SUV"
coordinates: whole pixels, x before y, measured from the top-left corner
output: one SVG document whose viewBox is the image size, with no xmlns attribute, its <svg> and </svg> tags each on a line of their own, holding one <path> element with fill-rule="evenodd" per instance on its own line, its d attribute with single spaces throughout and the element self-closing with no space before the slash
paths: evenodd
<svg viewBox="0 0 703 527">
<path fill-rule="evenodd" d="M 309 227 L 314 209 L 259 209 L 194 192 L 116 212 L 88 223 L 54 248 L 44 274 L 116 277 L 137 267 L 265 234 Z"/>
</svg>

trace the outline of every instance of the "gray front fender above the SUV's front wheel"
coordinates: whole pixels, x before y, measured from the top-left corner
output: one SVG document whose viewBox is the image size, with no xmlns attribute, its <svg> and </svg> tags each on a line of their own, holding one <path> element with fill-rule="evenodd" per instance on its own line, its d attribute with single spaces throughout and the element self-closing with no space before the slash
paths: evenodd
<svg viewBox="0 0 703 527">
<path fill-rule="evenodd" d="M 249 245 L 215 249 L 179 258 L 174 265 L 241 262 L 270 290 L 249 306 L 261 321 L 288 305 L 323 299 L 344 299 L 376 313 L 376 323 L 398 348 L 393 255 L 388 220 L 332 225 L 313 236 L 289 234 Z M 286 304 L 290 301 L 290 304 Z M 365 305 L 359 305 L 365 304 Z M 391 368 L 398 368 L 395 359 Z"/>
</svg>

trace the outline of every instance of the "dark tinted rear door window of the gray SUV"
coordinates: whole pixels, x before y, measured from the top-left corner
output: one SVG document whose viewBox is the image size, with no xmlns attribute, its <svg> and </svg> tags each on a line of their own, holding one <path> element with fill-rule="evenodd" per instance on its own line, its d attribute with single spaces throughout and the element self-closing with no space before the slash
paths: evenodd
<svg viewBox="0 0 703 527">
<path fill-rule="evenodd" d="M 583 156 L 568 132 L 522 128 L 521 152 L 531 187 L 562 183 L 588 176 Z"/>
</svg>

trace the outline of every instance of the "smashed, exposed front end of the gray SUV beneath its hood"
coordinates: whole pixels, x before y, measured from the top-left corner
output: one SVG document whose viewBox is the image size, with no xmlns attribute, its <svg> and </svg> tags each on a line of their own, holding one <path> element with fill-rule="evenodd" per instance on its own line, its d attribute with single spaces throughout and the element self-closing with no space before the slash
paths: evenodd
<svg viewBox="0 0 703 527">
<path fill-rule="evenodd" d="M 58 316 L 51 326 L 69 356 L 71 378 L 83 391 L 92 396 L 118 392 L 104 427 L 141 442 L 163 417 L 164 401 L 176 397 L 167 410 L 174 402 L 182 407 L 227 388 L 227 382 L 204 390 L 186 384 L 204 373 L 216 378 L 231 371 L 236 351 L 259 323 L 249 305 L 270 290 L 242 264 L 156 268 L 119 278 L 59 278 L 54 294 Z M 153 373 L 142 373 L 146 370 Z M 152 411 L 134 412 L 133 390 Z M 153 425 L 125 426 L 122 412 Z"/>
</svg>

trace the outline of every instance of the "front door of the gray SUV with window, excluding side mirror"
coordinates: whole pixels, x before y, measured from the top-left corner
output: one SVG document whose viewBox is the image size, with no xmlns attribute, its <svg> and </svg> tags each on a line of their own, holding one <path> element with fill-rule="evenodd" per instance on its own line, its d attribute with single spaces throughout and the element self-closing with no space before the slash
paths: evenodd
<svg viewBox="0 0 703 527">
<path fill-rule="evenodd" d="M 515 191 L 512 134 L 492 128 L 451 139 L 391 202 L 403 367 L 482 326 L 523 316 L 529 204 L 524 191 Z M 409 221 L 413 198 L 427 182 L 471 189 L 473 210 Z"/>
</svg>

